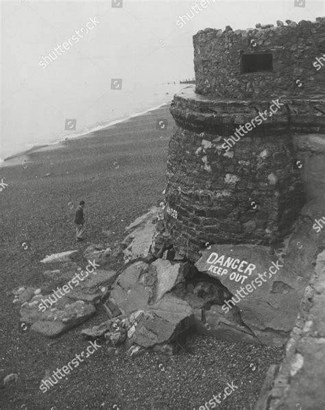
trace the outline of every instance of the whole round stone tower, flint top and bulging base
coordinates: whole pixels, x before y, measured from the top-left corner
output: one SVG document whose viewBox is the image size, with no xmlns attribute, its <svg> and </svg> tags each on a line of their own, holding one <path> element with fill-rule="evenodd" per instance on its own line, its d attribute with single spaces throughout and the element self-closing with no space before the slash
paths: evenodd
<svg viewBox="0 0 325 410">
<path fill-rule="evenodd" d="M 277 243 L 306 202 L 293 138 L 325 132 L 325 19 L 256 27 L 195 34 L 195 86 L 171 103 L 165 218 L 190 259 Z"/>
</svg>

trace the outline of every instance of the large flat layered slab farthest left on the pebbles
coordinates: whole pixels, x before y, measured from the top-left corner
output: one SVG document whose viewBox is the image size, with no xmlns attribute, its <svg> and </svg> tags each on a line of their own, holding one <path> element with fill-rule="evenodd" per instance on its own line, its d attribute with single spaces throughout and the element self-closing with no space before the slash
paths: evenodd
<svg viewBox="0 0 325 410">
<path fill-rule="evenodd" d="M 13 291 L 14 302 L 21 304 L 21 321 L 32 324 L 32 330 L 47 337 L 60 335 L 69 328 L 77 326 L 95 314 L 94 304 L 97 304 L 107 293 L 110 285 L 114 282 L 117 274 L 115 271 L 103 269 L 95 270 L 92 274 L 88 272 L 77 276 L 79 283 L 72 282 L 74 287 L 67 285 L 75 274 L 78 274 L 75 265 L 64 263 L 64 267 L 69 269 L 56 269 L 45 272 L 45 277 L 51 278 L 54 282 L 64 283 L 61 293 L 60 287 L 55 289 L 34 289 L 32 287 L 20 287 Z M 53 286 L 53 285 L 51 285 Z M 50 292 L 43 295 L 44 291 Z M 56 293 L 53 293 L 53 292 Z M 51 299 L 50 299 L 51 298 Z"/>
</svg>

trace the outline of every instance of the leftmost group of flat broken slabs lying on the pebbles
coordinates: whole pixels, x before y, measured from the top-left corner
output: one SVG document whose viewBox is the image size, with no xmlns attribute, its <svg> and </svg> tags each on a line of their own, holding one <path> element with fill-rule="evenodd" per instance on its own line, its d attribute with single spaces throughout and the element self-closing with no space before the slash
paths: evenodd
<svg viewBox="0 0 325 410">
<path fill-rule="evenodd" d="M 46 337 L 56 337 L 95 315 L 117 277 L 117 272 L 105 268 L 117 260 L 122 249 L 119 243 L 90 245 L 84 259 L 97 263 L 95 268 L 99 266 L 91 268 L 93 273 L 84 272 L 75 263 L 77 251 L 52 254 L 40 261 L 60 264 L 60 269 L 46 270 L 38 289 L 21 286 L 12 292 L 13 302 L 21 306 L 22 329 L 30 327 Z"/>
</svg>

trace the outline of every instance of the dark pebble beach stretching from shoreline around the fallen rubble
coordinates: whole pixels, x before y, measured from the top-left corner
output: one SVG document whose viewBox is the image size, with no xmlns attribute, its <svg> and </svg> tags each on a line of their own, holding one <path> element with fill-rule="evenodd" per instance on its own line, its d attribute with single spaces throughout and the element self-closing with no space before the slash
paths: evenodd
<svg viewBox="0 0 325 410">
<path fill-rule="evenodd" d="M 106 312 L 99 309 L 88 322 L 51 340 L 23 330 L 19 307 L 12 304 L 13 289 L 44 280 L 45 256 L 80 250 L 81 263 L 90 243 L 122 241 L 125 227 L 159 204 L 173 125 L 169 105 L 162 106 L 0 168 L 7 184 L 0 192 L 0 376 L 18 374 L 16 382 L 1 385 L 1 410 L 202 409 L 232 382 L 238 388 L 216 408 L 254 410 L 267 369 L 282 361 L 284 349 L 208 335 L 192 335 L 186 350 L 172 357 L 130 358 L 120 349 L 111 358 L 103 347 L 43 393 L 45 374 L 86 348 L 80 331 L 104 322 Z M 80 200 L 86 202 L 86 241 L 76 243 L 73 213 Z M 112 269 L 121 272 L 123 260 Z"/>
</svg>

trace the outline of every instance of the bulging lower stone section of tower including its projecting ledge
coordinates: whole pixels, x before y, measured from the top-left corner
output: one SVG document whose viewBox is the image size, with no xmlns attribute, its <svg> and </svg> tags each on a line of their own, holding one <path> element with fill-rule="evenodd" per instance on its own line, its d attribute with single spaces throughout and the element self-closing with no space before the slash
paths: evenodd
<svg viewBox="0 0 325 410">
<path fill-rule="evenodd" d="M 193 87 L 174 97 L 165 218 L 174 246 L 190 258 L 206 243 L 267 245 L 290 232 L 306 202 L 292 136 L 324 134 L 325 99 L 278 103 L 248 131 L 272 100 L 213 99 Z M 245 133 L 235 134 L 240 125 Z"/>
</svg>

